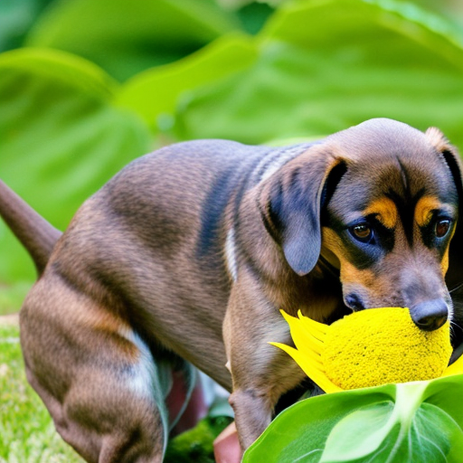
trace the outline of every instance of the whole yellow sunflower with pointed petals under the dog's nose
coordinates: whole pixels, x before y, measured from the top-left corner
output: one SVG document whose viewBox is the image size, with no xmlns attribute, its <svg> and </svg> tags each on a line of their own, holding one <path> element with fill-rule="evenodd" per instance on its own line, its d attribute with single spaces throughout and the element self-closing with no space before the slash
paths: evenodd
<svg viewBox="0 0 463 463">
<path fill-rule="evenodd" d="M 463 356 L 449 365 L 449 322 L 422 331 L 408 308 L 381 307 L 348 315 L 330 326 L 304 317 L 288 322 L 296 349 L 270 343 L 288 353 L 325 392 L 386 383 L 425 381 L 463 373 Z"/>
</svg>

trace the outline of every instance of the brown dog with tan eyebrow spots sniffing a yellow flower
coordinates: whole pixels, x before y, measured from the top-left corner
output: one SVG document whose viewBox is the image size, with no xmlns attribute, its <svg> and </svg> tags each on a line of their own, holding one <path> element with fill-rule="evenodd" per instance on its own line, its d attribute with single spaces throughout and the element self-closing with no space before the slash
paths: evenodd
<svg viewBox="0 0 463 463">
<path fill-rule="evenodd" d="M 160 462 L 158 373 L 193 364 L 231 392 L 247 449 L 305 380 L 269 345 L 291 344 L 280 308 L 331 323 L 410 307 L 420 329 L 449 319 L 461 341 L 449 292 L 463 271 L 461 198 L 446 137 L 385 118 L 283 148 L 163 147 L 62 235 L 2 184 L 0 212 L 40 275 L 20 313 L 28 381 L 87 461 Z"/>
</svg>

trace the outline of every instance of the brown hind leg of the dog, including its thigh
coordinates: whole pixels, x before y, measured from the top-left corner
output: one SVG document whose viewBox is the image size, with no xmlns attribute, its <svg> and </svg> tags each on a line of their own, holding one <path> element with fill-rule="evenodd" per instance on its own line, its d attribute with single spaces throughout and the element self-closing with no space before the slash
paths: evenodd
<svg viewBox="0 0 463 463">
<path fill-rule="evenodd" d="M 61 437 L 90 463 L 160 463 L 170 360 L 155 362 L 116 310 L 50 271 L 20 321 L 28 380 Z"/>
</svg>

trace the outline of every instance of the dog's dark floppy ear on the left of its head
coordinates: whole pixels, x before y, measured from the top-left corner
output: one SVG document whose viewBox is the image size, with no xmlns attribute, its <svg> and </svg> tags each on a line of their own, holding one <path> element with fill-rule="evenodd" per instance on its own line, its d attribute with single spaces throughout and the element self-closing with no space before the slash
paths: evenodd
<svg viewBox="0 0 463 463">
<path fill-rule="evenodd" d="M 315 145 L 267 179 L 260 212 L 289 266 L 303 276 L 315 267 L 321 249 L 320 212 L 345 174 L 345 162 L 327 146 Z"/>
</svg>

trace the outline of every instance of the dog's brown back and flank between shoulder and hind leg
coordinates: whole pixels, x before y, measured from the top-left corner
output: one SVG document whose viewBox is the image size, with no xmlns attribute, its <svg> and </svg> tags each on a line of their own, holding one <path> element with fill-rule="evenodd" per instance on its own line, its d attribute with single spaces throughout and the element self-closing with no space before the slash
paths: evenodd
<svg viewBox="0 0 463 463">
<path fill-rule="evenodd" d="M 250 164 L 269 151 L 217 140 L 137 159 L 80 207 L 43 279 L 71 281 L 93 300 L 111 298 L 146 340 L 231 390 L 222 341 L 231 286 L 226 212 L 244 194 L 234 190 L 247 183 Z"/>
</svg>

